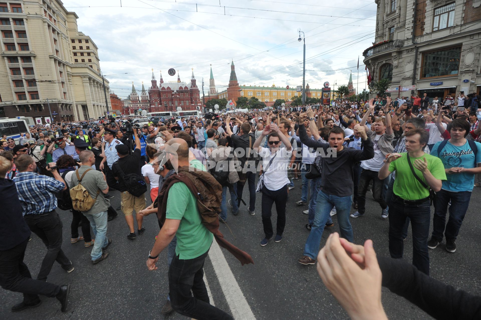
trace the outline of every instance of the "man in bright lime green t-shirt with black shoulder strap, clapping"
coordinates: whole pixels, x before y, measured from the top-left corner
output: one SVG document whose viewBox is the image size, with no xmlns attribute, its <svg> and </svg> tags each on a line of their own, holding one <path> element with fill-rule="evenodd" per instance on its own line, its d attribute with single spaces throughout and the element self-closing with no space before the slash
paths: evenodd
<svg viewBox="0 0 481 320">
<path fill-rule="evenodd" d="M 389 203 L 389 253 L 392 258 L 403 257 L 403 226 L 406 218 L 410 218 L 413 265 L 427 275 L 431 215 L 429 188 L 438 192 L 443 185 L 442 181 L 446 180 L 441 159 L 423 152 L 428 139 L 429 133 L 424 129 L 409 130 L 405 134 L 407 152 L 389 154 L 379 171 L 379 179 L 385 179 L 396 171 L 394 194 Z"/>
</svg>

